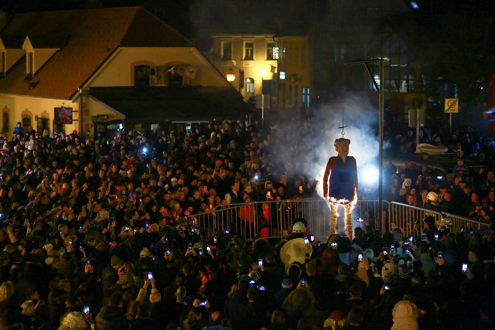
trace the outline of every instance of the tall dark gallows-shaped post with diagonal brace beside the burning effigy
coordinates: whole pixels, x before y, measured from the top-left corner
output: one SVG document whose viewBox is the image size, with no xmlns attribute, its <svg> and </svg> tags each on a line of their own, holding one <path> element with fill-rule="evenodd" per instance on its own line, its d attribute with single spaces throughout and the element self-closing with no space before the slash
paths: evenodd
<svg viewBox="0 0 495 330">
<path fill-rule="evenodd" d="M 360 60 L 355 60 L 355 61 L 347 61 L 344 62 L 344 64 L 364 64 L 364 67 L 366 68 L 366 71 L 368 71 L 368 74 L 370 75 L 371 81 L 375 85 L 375 88 L 378 92 L 378 98 L 379 98 L 379 108 L 378 108 L 378 116 L 379 116 L 379 125 L 378 125 L 378 135 L 379 135 L 379 172 L 378 172 L 378 214 L 381 219 L 382 223 L 382 233 L 385 232 L 385 219 L 383 217 L 383 97 L 385 91 L 383 90 L 383 86 L 385 85 L 383 83 L 383 58 L 379 59 L 360 59 Z M 376 80 L 374 79 L 373 73 L 371 72 L 371 69 L 369 67 L 369 64 L 380 64 L 380 74 L 379 74 L 379 81 L 380 81 L 380 86 L 376 83 Z M 381 89 L 380 89 L 381 88 Z"/>
</svg>

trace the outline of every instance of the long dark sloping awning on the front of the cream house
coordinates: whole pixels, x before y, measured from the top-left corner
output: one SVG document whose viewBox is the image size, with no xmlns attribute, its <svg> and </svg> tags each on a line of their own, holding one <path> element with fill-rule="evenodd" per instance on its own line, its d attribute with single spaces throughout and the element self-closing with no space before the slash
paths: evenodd
<svg viewBox="0 0 495 330">
<path fill-rule="evenodd" d="M 242 119 L 249 114 L 233 87 L 90 87 L 88 94 L 127 122 Z"/>
</svg>

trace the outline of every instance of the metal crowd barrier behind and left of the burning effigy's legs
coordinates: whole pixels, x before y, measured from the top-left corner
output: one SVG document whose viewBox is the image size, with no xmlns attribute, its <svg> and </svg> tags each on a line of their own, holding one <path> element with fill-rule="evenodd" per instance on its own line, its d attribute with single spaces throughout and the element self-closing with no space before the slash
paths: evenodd
<svg viewBox="0 0 495 330">
<path fill-rule="evenodd" d="M 388 210 L 389 202 L 384 201 L 384 210 Z M 263 210 L 266 210 L 266 214 Z M 344 207 L 339 207 L 337 232 L 346 232 Z M 386 212 L 384 212 L 386 217 Z M 268 220 L 264 218 L 268 215 Z M 385 218 L 384 217 L 384 218 Z M 196 224 L 217 230 L 230 230 L 246 239 L 255 237 L 284 238 L 292 231 L 292 225 L 297 218 L 304 218 L 308 225 L 306 231 L 324 241 L 330 234 L 330 208 L 323 199 L 293 199 L 283 201 L 263 201 L 220 205 L 211 212 L 194 215 Z M 378 216 L 378 201 L 358 201 L 352 210 L 353 227 L 365 227 L 362 218 L 381 229 L 382 221 Z M 376 220 L 376 221 L 375 221 Z"/>
</svg>

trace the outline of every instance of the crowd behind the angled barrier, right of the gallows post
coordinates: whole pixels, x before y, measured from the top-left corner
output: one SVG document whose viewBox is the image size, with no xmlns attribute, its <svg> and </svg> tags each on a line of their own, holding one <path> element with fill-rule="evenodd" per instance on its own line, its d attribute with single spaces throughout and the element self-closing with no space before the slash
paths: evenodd
<svg viewBox="0 0 495 330">
<path fill-rule="evenodd" d="M 439 134 L 426 131 L 426 134 L 419 131 L 419 142 L 445 146 L 453 154 L 452 171 L 447 175 L 434 173 L 414 160 L 403 168 L 390 162 L 385 165 L 391 179 L 386 199 L 485 223 L 495 222 L 494 138 L 483 138 L 468 127 L 464 132 L 455 130 L 443 145 Z M 415 144 L 416 136 L 409 130 L 404 136 L 396 135 L 391 151 L 400 154 L 411 148 L 415 150 Z M 465 161 L 470 161 L 470 166 Z"/>
</svg>

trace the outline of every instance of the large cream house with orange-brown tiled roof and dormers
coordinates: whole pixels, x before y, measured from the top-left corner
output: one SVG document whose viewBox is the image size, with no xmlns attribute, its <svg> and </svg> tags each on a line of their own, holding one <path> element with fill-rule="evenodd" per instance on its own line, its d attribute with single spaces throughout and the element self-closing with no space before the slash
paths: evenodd
<svg viewBox="0 0 495 330">
<path fill-rule="evenodd" d="M 4 22 L 0 27 L 3 133 L 11 133 L 18 121 L 25 128 L 49 133 L 77 130 L 93 136 L 107 134 L 109 128 L 121 129 L 134 113 L 108 106 L 91 94 L 94 87 L 128 87 L 129 96 L 139 97 L 154 87 L 182 94 L 200 86 L 233 89 L 190 41 L 143 7 L 22 13 L 7 16 Z M 174 93 L 167 95 L 173 99 Z M 166 121 L 172 111 L 187 110 L 182 105 L 167 108 L 169 102 L 163 100 L 155 106 L 155 117 L 146 118 L 147 109 L 140 107 L 138 95 L 131 101 L 134 107 L 129 111 L 149 122 Z M 72 108 L 72 123 L 54 120 L 55 108 L 61 107 Z M 150 128 L 140 120 L 132 126 Z"/>
</svg>

